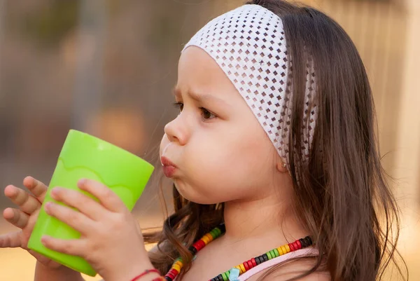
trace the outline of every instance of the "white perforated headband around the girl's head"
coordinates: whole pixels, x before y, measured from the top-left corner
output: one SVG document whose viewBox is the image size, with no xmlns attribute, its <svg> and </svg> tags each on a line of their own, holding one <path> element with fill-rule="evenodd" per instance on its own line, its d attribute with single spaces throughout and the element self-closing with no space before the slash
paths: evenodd
<svg viewBox="0 0 420 281">
<path fill-rule="evenodd" d="M 288 161 L 288 132 L 292 87 L 283 22 L 278 15 L 258 5 L 244 5 L 211 20 L 184 46 L 206 51 L 244 97 L 279 156 Z M 314 71 L 308 69 L 304 104 L 304 156 L 309 156 L 316 121 Z M 309 120 L 308 120 L 309 118 Z"/>
</svg>

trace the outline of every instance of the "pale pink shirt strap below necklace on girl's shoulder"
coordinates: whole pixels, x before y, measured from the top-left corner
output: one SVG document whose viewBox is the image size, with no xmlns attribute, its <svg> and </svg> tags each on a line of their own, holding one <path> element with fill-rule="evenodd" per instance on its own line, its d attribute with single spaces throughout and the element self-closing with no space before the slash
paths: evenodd
<svg viewBox="0 0 420 281">
<path fill-rule="evenodd" d="M 255 266 L 254 268 L 251 268 L 250 270 L 246 271 L 246 273 L 240 275 L 238 277 L 239 281 L 246 281 L 249 277 L 260 273 L 262 270 L 265 270 L 267 268 L 270 268 L 272 266 L 275 266 L 276 264 L 279 264 L 283 261 L 286 261 L 288 259 L 293 258 L 299 258 L 302 256 L 318 256 L 318 249 L 314 248 L 304 248 L 304 249 L 298 249 L 297 251 L 290 252 L 287 254 L 283 254 L 281 256 L 277 256 L 274 259 L 270 259 L 269 261 L 265 261 L 264 263 L 258 264 L 258 266 Z"/>
</svg>

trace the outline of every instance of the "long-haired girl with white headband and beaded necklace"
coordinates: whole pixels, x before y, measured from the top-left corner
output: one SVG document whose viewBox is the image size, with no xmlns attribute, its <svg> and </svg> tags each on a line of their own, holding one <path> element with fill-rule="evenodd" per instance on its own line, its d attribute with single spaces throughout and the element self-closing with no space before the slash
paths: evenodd
<svg viewBox="0 0 420 281">
<path fill-rule="evenodd" d="M 158 246 L 147 254 L 115 194 L 81 180 L 99 203 L 53 189 L 80 212 L 47 212 L 82 236 L 45 237 L 47 247 L 82 256 L 106 281 L 366 281 L 395 261 L 398 210 L 375 144 L 372 92 L 336 22 L 314 8 L 251 1 L 186 44 L 174 96 L 180 114 L 160 156 L 175 212 L 145 236 Z M 46 186 L 30 177 L 24 185 L 32 195 L 6 187 L 20 209 L 3 216 L 22 231 L 1 247 L 26 247 Z M 32 254 L 35 280 L 83 280 Z"/>
</svg>

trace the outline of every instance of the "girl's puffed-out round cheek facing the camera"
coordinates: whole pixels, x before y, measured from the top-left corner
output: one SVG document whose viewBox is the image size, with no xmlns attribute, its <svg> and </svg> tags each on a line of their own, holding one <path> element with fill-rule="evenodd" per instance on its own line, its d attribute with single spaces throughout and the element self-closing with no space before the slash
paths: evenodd
<svg viewBox="0 0 420 281">
<path fill-rule="evenodd" d="M 206 203 L 235 200 L 251 196 L 267 184 L 268 174 L 273 172 L 269 167 L 274 147 L 271 149 L 272 143 L 263 135 L 265 132 L 248 132 L 230 130 L 223 135 L 195 139 L 197 142 L 188 144 L 186 165 L 190 171 L 189 185 L 194 193 L 191 200 L 211 201 Z M 181 183 L 179 189 L 181 193 L 188 193 L 187 186 L 183 190 Z"/>
</svg>

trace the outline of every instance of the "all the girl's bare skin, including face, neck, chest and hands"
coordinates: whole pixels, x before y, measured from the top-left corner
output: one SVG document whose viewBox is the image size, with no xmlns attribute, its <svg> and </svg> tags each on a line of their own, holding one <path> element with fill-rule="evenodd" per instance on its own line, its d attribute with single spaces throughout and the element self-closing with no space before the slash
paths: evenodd
<svg viewBox="0 0 420 281">
<path fill-rule="evenodd" d="M 175 93 L 181 111 L 165 126 L 160 155 L 176 165 L 172 180 L 182 196 L 202 204 L 225 202 L 226 225 L 225 235 L 200 251 L 183 281 L 197 281 L 197 276 L 208 280 L 225 271 L 226 265 L 235 266 L 306 236 L 290 212 L 293 186 L 283 161 L 239 92 L 200 48 L 189 47 L 181 55 Z M 25 179 L 24 185 L 32 194 L 16 186 L 5 189 L 19 209 L 6 209 L 3 217 L 22 231 L 1 236 L 0 247 L 26 247 L 46 186 L 33 178 Z M 80 212 L 55 204 L 45 207 L 48 214 L 80 231 L 82 238 L 44 238 L 44 245 L 83 256 L 106 281 L 130 280 L 151 268 L 140 228 L 118 197 L 96 181 L 81 180 L 78 186 L 99 198 L 99 203 L 82 193 L 58 188 L 54 189 L 55 200 Z M 112 231 L 115 229 L 118 235 Z M 71 276 L 66 280 L 81 278 L 34 256 L 43 279 L 54 274 L 56 280 L 60 275 Z M 293 270 L 307 270 L 312 263 L 293 265 L 272 280 L 285 280 Z M 329 278 L 314 273 L 302 280 Z"/>
</svg>

